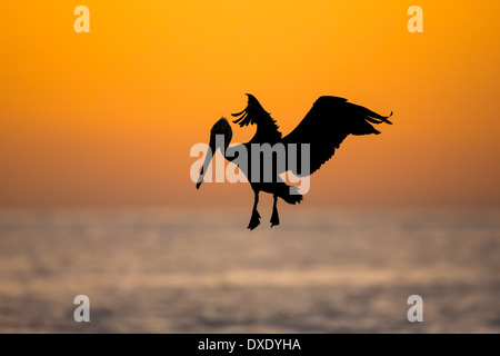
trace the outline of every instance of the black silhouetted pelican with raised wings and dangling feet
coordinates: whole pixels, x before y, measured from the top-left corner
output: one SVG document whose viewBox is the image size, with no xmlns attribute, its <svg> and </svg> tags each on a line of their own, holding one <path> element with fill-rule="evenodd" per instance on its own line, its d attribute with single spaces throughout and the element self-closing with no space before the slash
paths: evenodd
<svg viewBox="0 0 500 356">
<path fill-rule="evenodd" d="M 209 149 L 200 170 L 197 188 L 200 188 L 213 155 L 217 150 L 220 150 L 227 160 L 238 165 L 253 190 L 253 208 L 248 225 L 250 230 L 253 230 L 260 224 L 260 215 L 257 210 L 260 191 L 273 196 L 271 227 L 280 224 L 277 207 L 278 198 L 292 205 L 302 201 L 303 197 L 299 194 L 298 187 L 287 185 L 281 178 L 283 172 L 290 171 L 296 177 L 310 176 L 334 155 L 336 149 L 349 135 L 379 135 L 380 131 L 371 123 L 392 125 L 388 120 L 392 112 L 384 117 L 362 106 L 351 103 L 347 99 L 323 96 L 316 100 L 302 121 L 289 135 L 282 137 L 276 120 L 262 108 L 256 97 L 249 93 L 247 96 L 247 108 L 241 112 L 232 113 L 233 117 L 237 117 L 233 122 L 240 127 L 256 125 L 256 135 L 246 144 L 229 147 L 232 138 L 231 126 L 226 118 L 217 121 L 210 131 Z M 222 139 L 217 139 L 218 136 Z M 273 149 L 280 145 L 281 150 Z M 260 148 L 266 146 L 271 149 L 272 159 L 268 160 L 269 165 L 264 165 L 262 159 L 262 155 L 266 155 L 262 154 L 264 150 L 261 149 L 256 152 L 256 150 L 252 150 L 254 146 Z M 298 155 L 297 146 L 306 147 L 309 154 L 306 159 Z M 291 149 L 291 147 L 294 148 Z M 229 155 L 231 148 L 233 152 L 247 152 L 246 157 L 234 154 Z M 284 155 L 278 155 L 279 151 Z M 264 176 L 269 171 L 271 174 L 266 178 Z M 269 179 L 269 177 L 271 178 Z"/>
</svg>

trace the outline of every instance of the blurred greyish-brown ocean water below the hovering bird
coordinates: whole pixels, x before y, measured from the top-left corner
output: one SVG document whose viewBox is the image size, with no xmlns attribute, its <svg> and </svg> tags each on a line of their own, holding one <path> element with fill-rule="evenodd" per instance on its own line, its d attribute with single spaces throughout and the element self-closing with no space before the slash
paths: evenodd
<svg viewBox="0 0 500 356">
<path fill-rule="evenodd" d="M 0 332 L 500 332 L 499 210 L 300 208 L 2 210 Z"/>
</svg>

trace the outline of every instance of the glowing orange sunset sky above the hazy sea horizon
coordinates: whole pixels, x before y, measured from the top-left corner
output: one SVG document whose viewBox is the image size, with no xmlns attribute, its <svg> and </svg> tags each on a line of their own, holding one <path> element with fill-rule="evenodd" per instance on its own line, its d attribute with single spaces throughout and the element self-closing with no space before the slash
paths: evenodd
<svg viewBox="0 0 500 356">
<path fill-rule="evenodd" d="M 73 30 L 79 4 L 90 33 Z M 407 30 L 412 4 L 423 33 Z M 498 1 L 44 0 L 0 13 L 2 207 L 250 208 L 248 184 L 197 191 L 189 178 L 191 145 L 246 92 L 283 134 L 321 95 L 394 111 L 312 176 L 308 206 L 500 206 Z"/>
</svg>

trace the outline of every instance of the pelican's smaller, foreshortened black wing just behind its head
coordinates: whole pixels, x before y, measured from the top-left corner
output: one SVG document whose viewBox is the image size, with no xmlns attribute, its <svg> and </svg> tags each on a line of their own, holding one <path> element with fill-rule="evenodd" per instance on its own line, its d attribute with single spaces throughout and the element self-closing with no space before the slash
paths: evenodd
<svg viewBox="0 0 500 356">
<path fill-rule="evenodd" d="M 281 132 L 278 130 L 279 127 L 276 125 L 276 120 L 271 118 L 269 112 L 267 112 L 254 96 L 248 93 L 248 105 L 243 111 L 238 113 L 231 113 L 233 117 L 239 117 L 236 119 L 234 123 L 240 127 L 250 125 L 257 125 L 257 129 L 264 131 L 264 137 L 269 141 L 277 141 L 281 139 Z M 272 142 L 270 142 L 272 144 Z"/>
</svg>

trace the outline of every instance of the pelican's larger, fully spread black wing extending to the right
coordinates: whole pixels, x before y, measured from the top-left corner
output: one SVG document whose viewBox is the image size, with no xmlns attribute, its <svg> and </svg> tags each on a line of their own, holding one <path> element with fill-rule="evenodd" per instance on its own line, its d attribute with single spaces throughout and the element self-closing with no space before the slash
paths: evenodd
<svg viewBox="0 0 500 356">
<path fill-rule="evenodd" d="M 317 171 L 327 162 L 349 135 L 379 135 L 372 123 L 392 123 L 388 118 L 338 97 L 320 97 L 303 120 L 287 135 L 283 144 L 309 144 L 310 169 L 289 167 L 298 177 Z M 300 156 L 300 146 L 298 147 Z M 298 166 L 298 165 L 296 165 Z"/>
</svg>

